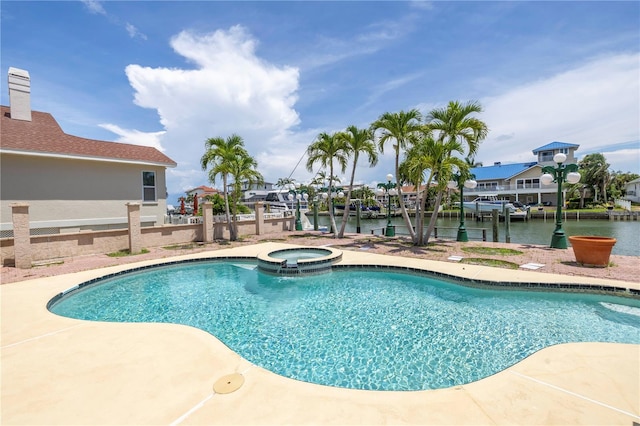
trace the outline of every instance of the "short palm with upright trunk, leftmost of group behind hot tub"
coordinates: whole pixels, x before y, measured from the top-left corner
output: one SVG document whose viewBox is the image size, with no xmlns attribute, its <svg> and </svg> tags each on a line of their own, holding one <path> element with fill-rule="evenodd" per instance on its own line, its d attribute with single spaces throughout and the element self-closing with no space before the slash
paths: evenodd
<svg viewBox="0 0 640 426">
<path fill-rule="evenodd" d="M 315 163 L 320 163 L 321 167 L 329 168 L 329 197 L 327 207 L 334 237 L 336 236 L 336 219 L 333 215 L 331 193 L 333 188 L 333 161 L 336 160 L 341 172 L 347 168 L 347 153 L 343 138 L 334 133 L 332 135 L 322 132 L 316 140 L 307 148 L 307 170 L 312 171 Z"/>
</svg>

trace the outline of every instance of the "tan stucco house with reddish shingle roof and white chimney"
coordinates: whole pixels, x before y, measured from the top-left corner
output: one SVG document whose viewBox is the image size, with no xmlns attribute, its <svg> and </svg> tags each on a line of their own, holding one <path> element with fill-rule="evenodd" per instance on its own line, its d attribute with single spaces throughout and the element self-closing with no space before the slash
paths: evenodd
<svg viewBox="0 0 640 426">
<path fill-rule="evenodd" d="M 165 171 L 176 163 L 155 148 L 64 133 L 31 111 L 29 73 L 9 68 L 10 106 L 1 107 L 0 230 L 12 236 L 11 204 L 29 204 L 31 233 L 127 227 L 126 203 L 141 203 L 142 226 L 164 222 Z"/>
</svg>

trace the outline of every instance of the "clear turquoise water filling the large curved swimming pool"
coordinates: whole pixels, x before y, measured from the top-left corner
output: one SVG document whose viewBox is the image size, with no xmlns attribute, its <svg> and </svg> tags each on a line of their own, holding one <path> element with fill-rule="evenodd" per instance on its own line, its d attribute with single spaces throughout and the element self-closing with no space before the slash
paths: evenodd
<svg viewBox="0 0 640 426">
<path fill-rule="evenodd" d="M 108 279 L 50 309 L 190 325 L 274 373 L 354 389 L 446 388 L 554 344 L 640 343 L 638 300 L 363 270 L 300 277 L 264 274 L 255 264 L 185 264 Z"/>
</svg>

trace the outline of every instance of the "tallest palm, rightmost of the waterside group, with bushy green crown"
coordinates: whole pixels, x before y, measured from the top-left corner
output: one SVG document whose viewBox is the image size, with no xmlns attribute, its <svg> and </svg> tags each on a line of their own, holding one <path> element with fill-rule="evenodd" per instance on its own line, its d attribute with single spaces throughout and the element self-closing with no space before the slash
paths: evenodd
<svg viewBox="0 0 640 426">
<path fill-rule="evenodd" d="M 470 117 L 471 114 L 482 112 L 482 106 L 479 102 L 469 101 L 466 104 L 461 104 L 458 101 L 450 101 L 446 108 L 433 109 L 427 115 L 427 122 L 429 128 L 435 132 L 437 140 L 442 143 L 458 143 L 463 151 L 466 151 L 463 155 L 469 158 L 473 158 L 478 152 L 480 143 L 487 137 L 489 128 L 480 119 Z M 454 145 L 451 145 L 453 147 Z M 465 150 L 466 148 L 466 150 Z M 457 149 L 456 149 L 457 151 Z M 451 155 L 449 152 L 448 156 Z M 446 157 L 443 157 L 443 160 Z M 460 172 L 468 172 L 468 166 L 466 164 L 459 168 Z M 440 201 L 442 200 L 442 194 L 444 187 L 439 188 L 436 196 L 436 202 L 434 205 L 434 214 L 431 215 L 429 221 L 429 227 L 427 228 L 427 241 L 429 236 L 433 232 L 436 226 L 437 215 L 435 212 L 440 208 Z M 462 202 L 462 200 L 460 200 Z"/>
</svg>

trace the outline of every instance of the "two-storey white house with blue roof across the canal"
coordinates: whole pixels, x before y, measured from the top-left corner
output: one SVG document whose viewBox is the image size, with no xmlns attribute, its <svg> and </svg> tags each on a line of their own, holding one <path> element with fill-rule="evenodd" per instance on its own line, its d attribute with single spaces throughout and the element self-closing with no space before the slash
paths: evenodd
<svg viewBox="0 0 640 426">
<path fill-rule="evenodd" d="M 498 198 L 523 204 L 554 205 L 558 186 L 556 183 L 543 185 L 540 182 L 542 167 L 555 166 L 553 156 L 558 153 L 567 156 L 565 164 L 575 164 L 575 152 L 579 146 L 566 142 L 551 142 L 533 150 L 536 161 L 512 164 L 496 162 L 493 166 L 474 167 L 471 173 L 475 175 L 478 186 L 472 190 L 465 190 L 465 196 L 474 199 L 496 195 Z"/>
</svg>

